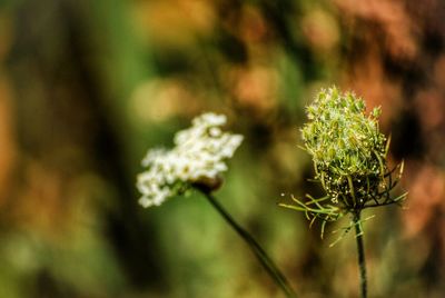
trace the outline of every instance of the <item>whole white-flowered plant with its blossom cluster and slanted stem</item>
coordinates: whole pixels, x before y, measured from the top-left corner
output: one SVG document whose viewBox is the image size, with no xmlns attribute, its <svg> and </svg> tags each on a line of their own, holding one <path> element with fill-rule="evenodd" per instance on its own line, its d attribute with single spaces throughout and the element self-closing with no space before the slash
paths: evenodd
<svg viewBox="0 0 445 298">
<path fill-rule="evenodd" d="M 261 246 L 222 208 L 211 195 L 221 185 L 220 173 L 227 170 L 231 158 L 243 141 L 243 136 L 224 132 L 224 115 L 204 113 L 192 120 L 192 126 L 175 136 L 175 148 L 151 149 L 142 160 L 147 168 L 137 177 L 137 188 L 142 193 L 142 207 L 159 206 L 190 187 L 200 190 L 227 224 L 250 247 L 259 262 L 287 297 L 296 297 L 285 276 L 275 266 Z"/>
</svg>

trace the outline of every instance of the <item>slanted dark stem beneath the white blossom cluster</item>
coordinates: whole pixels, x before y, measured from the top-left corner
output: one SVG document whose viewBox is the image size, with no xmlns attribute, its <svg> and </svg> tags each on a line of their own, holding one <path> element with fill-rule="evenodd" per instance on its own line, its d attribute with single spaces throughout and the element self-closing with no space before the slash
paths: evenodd
<svg viewBox="0 0 445 298">
<path fill-rule="evenodd" d="M 297 295 L 290 287 L 286 277 L 279 271 L 274 261 L 268 257 L 266 251 L 258 245 L 258 242 L 250 236 L 250 234 L 243 229 L 209 192 L 202 191 L 202 193 L 215 207 L 215 209 L 222 216 L 222 218 L 231 226 L 231 228 L 234 228 L 234 230 L 243 238 L 243 240 L 245 240 L 247 245 L 249 245 L 250 249 L 253 250 L 259 262 L 274 279 L 274 281 L 286 294 L 286 297 L 296 298 Z"/>
</svg>

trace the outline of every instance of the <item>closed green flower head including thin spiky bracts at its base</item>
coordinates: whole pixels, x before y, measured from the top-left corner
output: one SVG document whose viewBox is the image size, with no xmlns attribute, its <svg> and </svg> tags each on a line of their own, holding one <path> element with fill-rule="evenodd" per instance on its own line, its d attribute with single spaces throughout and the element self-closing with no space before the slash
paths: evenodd
<svg viewBox="0 0 445 298">
<path fill-rule="evenodd" d="M 281 205 L 305 211 L 312 220 L 337 220 L 368 207 L 399 203 L 406 193 L 392 198 L 403 162 L 388 170 L 386 157 L 389 140 L 379 131 L 379 108 L 366 115 L 365 102 L 352 92 L 342 93 L 333 87 L 322 90 L 306 108 L 309 121 L 301 129 L 305 150 L 312 156 L 315 180 L 326 196 L 298 205 Z M 397 177 L 393 177 L 398 169 Z"/>
</svg>

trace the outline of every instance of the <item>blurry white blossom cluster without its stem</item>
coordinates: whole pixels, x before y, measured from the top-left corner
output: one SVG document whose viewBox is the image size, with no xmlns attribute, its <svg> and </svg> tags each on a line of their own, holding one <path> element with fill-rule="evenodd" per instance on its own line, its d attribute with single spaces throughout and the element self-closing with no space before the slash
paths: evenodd
<svg viewBox="0 0 445 298">
<path fill-rule="evenodd" d="M 144 207 L 159 206 L 177 195 L 184 183 L 217 179 L 227 170 L 225 160 L 231 158 L 243 136 L 224 132 L 226 116 L 204 113 L 192 120 L 189 129 L 175 136 L 171 150 L 151 149 L 142 160 L 147 170 L 137 177 Z"/>
</svg>

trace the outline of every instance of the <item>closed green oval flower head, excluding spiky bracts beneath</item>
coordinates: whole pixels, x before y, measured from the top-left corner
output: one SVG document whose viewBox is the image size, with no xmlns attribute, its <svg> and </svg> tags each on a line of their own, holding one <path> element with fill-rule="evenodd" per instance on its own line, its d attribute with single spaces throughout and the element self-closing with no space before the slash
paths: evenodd
<svg viewBox="0 0 445 298">
<path fill-rule="evenodd" d="M 333 87 L 322 90 L 306 109 L 309 122 L 301 129 L 312 155 L 316 179 L 347 207 L 365 203 L 378 192 L 386 167 L 386 138 L 379 132 L 380 109 L 365 113 L 365 102 Z"/>
</svg>

